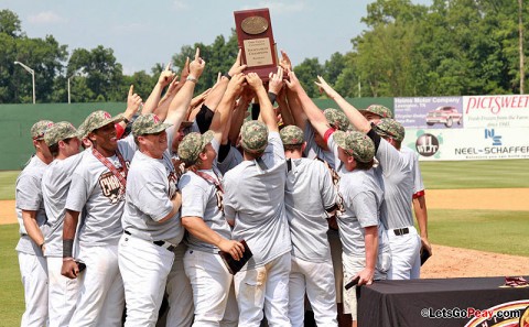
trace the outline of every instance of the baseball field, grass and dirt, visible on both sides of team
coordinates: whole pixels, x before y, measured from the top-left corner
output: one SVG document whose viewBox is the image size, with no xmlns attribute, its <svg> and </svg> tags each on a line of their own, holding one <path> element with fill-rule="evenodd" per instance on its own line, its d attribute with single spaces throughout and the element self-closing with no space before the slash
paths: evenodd
<svg viewBox="0 0 529 327">
<path fill-rule="evenodd" d="M 529 275 L 529 160 L 421 162 L 433 257 L 422 277 Z M 14 182 L 0 172 L 0 326 L 20 325 Z"/>
</svg>

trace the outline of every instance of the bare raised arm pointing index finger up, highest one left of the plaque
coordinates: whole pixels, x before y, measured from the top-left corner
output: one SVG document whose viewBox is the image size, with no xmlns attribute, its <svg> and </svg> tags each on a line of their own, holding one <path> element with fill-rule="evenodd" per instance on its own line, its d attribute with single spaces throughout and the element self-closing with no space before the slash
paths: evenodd
<svg viewBox="0 0 529 327">
<path fill-rule="evenodd" d="M 186 77 L 182 89 L 176 94 L 174 99 L 169 106 L 168 118 L 165 122 L 172 123 L 175 130 L 180 128 L 181 122 L 184 120 L 190 107 L 191 99 L 193 98 L 193 91 L 198 78 L 204 72 L 206 63 L 201 58 L 201 50 L 196 48 L 195 58 L 190 64 L 190 75 Z"/>
</svg>

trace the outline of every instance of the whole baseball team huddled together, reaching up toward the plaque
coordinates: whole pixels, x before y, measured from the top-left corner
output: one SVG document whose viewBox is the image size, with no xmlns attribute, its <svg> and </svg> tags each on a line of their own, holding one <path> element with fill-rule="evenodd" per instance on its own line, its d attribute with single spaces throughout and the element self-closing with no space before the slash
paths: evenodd
<svg viewBox="0 0 529 327">
<path fill-rule="evenodd" d="M 356 285 L 419 277 L 424 186 L 391 111 L 317 76 L 341 109 L 320 110 L 284 52 L 262 78 L 239 51 L 193 97 L 205 64 L 168 65 L 144 102 L 131 86 L 118 116 L 33 124 L 21 326 L 357 326 Z M 234 275 L 219 251 L 242 240 Z"/>
</svg>

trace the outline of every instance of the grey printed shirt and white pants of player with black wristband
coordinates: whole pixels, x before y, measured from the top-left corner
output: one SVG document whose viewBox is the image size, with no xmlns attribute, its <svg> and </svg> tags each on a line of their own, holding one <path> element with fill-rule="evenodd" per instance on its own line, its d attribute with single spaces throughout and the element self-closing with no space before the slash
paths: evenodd
<svg viewBox="0 0 529 327">
<path fill-rule="evenodd" d="M 118 141 L 126 165 L 137 149 L 132 135 Z M 117 155 L 107 157 L 121 175 Z M 125 194 L 117 176 L 88 150 L 72 175 L 66 209 L 85 210 L 77 233 L 78 259 L 86 263 L 79 274 L 79 295 L 71 326 L 121 326 L 125 291 L 118 268 L 118 242 L 123 233 Z"/>
</svg>

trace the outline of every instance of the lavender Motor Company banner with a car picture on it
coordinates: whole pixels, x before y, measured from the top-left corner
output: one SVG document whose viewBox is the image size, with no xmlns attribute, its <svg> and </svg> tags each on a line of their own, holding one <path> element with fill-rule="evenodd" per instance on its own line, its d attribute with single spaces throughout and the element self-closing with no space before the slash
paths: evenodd
<svg viewBox="0 0 529 327">
<path fill-rule="evenodd" d="M 463 97 L 395 98 L 395 119 L 407 129 L 461 129 Z"/>
</svg>

